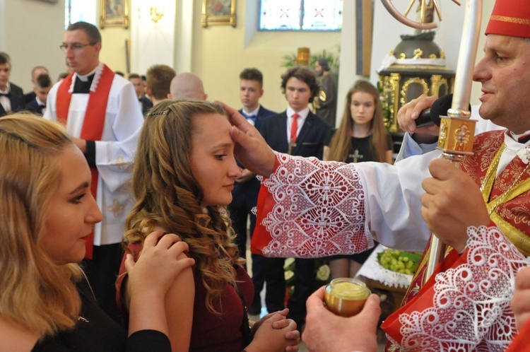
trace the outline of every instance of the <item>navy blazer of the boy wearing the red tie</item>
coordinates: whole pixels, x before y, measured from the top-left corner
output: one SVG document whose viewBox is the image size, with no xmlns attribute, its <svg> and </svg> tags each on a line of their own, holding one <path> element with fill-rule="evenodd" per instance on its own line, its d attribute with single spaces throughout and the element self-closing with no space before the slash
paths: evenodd
<svg viewBox="0 0 530 352">
<path fill-rule="evenodd" d="M 296 146 L 291 151 L 293 156 L 316 156 L 322 160 L 324 154 L 324 139 L 331 126 L 312 112 L 307 115 L 305 122 L 296 137 Z M 261 136 L 274 151 L 288 153 L 287 140 L 287 112 L 265 119 L 259 129 Z"/>
</svg>

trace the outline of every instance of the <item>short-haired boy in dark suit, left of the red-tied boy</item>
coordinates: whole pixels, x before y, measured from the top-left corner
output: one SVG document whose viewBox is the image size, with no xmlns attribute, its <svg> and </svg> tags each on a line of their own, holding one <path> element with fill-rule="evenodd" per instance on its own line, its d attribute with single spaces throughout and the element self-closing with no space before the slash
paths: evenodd
<svg viewBox="0 0 530 352">
<path fill-rule="evenodd" d="M 258 69 L 244 69 L 240 74 L 240 100 L 243 105 L 240 112 L 257 129 L 261 127 L 261 121 L 267 117 L 276 115 L 276 112 L 267 110 L 259 104 L 259 98 L 263 96 L 263 74 Z M 243 169 L 243 166 L 240 165 Z M 260 183 L 256 175 L 249 170 L 242 170 L 242 176 L 235 180 L 232 191 L 232 203 L 228 206 L 232 228 L 237 237 L 235 242 L 240 250 L 240 257 L 246 258 L 247 250 L 247 219 L 250 217 L 250 235 L 256 226 L 256 216 L 252 209 L 257 204 Z M 254 283 L 254 300 L 249 307 L 249 314 L 259 315 L 261 312 L 261 297 L 259 293 L 264 286 L 265 264 L 263 257 L 252 254 L 252 283 Z"/>
</svg>

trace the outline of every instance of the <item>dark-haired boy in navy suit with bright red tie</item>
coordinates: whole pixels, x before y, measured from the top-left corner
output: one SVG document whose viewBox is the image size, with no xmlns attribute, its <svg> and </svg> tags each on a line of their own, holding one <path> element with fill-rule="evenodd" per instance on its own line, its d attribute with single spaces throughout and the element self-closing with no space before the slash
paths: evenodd
<svg viewBox="0 0 530 352">
<path fill-rule="evenodd" d="M 322 159 L 324 139 L 331 128 L 310 111 L 309 104 L 319 93 L 317 77 L 307 67 L 295 66 L 281 76 L 287 110 L 261 122 L 259 131 L 274 151 Z M 283 258 L 266 258 L 266 305 L 269 312 L 283 309 L 285 276 Z M 314 259 L 295 260 L 295 292 L 288 301 L 289 318 L 299 329 L 304 324 L 305 301 L 314 287 Z"/>
</svg>

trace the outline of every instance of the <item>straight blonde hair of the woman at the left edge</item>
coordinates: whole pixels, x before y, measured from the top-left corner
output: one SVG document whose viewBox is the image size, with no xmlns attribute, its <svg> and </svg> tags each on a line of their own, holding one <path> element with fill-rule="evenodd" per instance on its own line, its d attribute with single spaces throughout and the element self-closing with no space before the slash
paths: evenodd
<svg viewBox="0 0 530 352">
<path fill-rule="evenodd" d="M 0 119 L 0 315 L 40 334 L 73 328 L 81 307 L 77 264 L 54 264 L 39 245 L 59 184 L 58 156 L 70 143 L 42 117 Z"/>
</svg>

